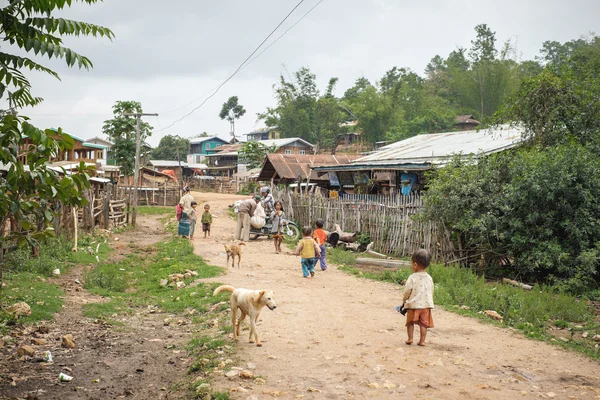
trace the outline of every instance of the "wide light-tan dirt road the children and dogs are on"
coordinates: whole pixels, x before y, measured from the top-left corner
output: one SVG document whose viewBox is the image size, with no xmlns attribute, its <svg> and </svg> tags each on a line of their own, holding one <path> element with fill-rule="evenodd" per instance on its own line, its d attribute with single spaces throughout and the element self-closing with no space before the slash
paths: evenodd
<svg viewBox="0 0 600 400">
<path fill-rule="evenodd" d="M 216 217 L 213 237 L 198 234 L 195 251 L 225 266 L 223 244 L 235 225 L 227 205 L 240 197 L 195 196 L 208 200 Z M 278 307 L 261 316 L 264 347 L 247 343 L 246 332 L 238 346 L 240 367 L 253 363 L 266 384 L 238 378 L 215 384 L 247 390 L 234 398 L 600 398 L 600 365 L 582 356 L 441 309 L 434 312 L 428 346 L 407 346 L 403 318 L 394 311 L 397 286 L 334 266 L 303 279 L 299 259 L 275 254 L 264 239 L 243 251 L 242 268 L 214 281 L 271 289 Z"/>
</svg>

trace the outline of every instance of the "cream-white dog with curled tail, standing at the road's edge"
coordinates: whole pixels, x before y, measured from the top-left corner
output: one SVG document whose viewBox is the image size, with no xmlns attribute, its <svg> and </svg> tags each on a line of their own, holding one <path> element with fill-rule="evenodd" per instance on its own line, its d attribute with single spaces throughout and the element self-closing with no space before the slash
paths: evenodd
<svg viewBox="0 0 600 400">
<path fill-rule="evenodd" d="M 240 325 L 246 318 L 246 315 L 250 317 L 250 343 L 254 343 L 256 340 L 257 346 L 262 346 L 258 333 L 256 332 L 256 321 L 260 311 L 264 306 L 269 307 L 269 310 L 273 311 L 277 308 L 275 302 L 275 296 L 270 290 L 248 290 L 241 288 L 234 288 L 233 286 L 223 285 L 215 289 L 213 296 L 218 295 L 221 292 L 231 292 L 231 325 L 233 326 L 233 340 L 238 340 L 240 335 Z M 242 315 L 237 319 L 237 310 L 240 309 Z M 254 338 L 253 338 L 254 337 Z"/>
</svg>

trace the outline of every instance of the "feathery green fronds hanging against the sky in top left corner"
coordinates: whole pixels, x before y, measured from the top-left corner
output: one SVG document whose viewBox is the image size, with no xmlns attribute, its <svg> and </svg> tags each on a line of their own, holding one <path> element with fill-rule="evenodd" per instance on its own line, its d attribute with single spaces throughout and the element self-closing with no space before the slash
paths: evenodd
<svg viewBox="0 0 600 400">
<path fill-rule="evenodd" d="M 84 0 L 94 4 L 97 0 Z M 107 28 L 52 16 L 65 6 L 70 7 L 71 1 L 65 0 L 21 0 L 10 1 L 0 8 L 2 40 L 13 49 L 23 52 L 33 52 L 36 56 L 49 59 L 60 58 L 68 67 L 75 64 L 81 69 L 90 69 L 92 62 L 85 56 L 63 45 L 61 36 L 106 36 L 109 39 L 114 34 Z M 53 70 L 24 57 L 6 53 L 8 46 L 3 46 L 0 52 L 0 98 L 7 95 L 12 107 L 34 106 L 42 99 L 31 94 L 31 83 L 25 76 L 24 70 L 42 72 L 57 79 L 59 76 Z"/>
</svg>

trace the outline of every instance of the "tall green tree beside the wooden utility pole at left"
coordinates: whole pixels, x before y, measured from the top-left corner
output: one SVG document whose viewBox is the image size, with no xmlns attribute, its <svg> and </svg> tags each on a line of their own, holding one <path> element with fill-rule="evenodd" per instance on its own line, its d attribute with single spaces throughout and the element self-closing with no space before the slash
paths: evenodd
<svg viewBox="0 0 600 400">
<path fill-rule="evenodd" d="M 136 118 L 124 113 L 141 113 L 142 105 L 137 101 L 117 101 L 113 106 L 113 118 L 104 121 L 102 132 L 114 143 L 111 151 L 117 164 L 127 176 L 135 169 Z M 143 143 L 151 134 L 152 126 L 142 121 L 140 141 Z"/>
</svg>

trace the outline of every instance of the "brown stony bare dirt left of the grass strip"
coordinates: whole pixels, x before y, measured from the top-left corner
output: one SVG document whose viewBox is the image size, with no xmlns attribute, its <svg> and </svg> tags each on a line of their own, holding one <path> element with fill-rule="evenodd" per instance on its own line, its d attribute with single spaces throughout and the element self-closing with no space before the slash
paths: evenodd
<svg viewBox="0 0 600 400">
<path fill-rule="evenodd" d="M 165 238 L 160 222 L 138 217 L 139 231 L 116 234 L 111 245 L 114 258 L 123 257 L 127 245 L 144 246 Z M 141 232 L 140 232 L 141 231 Z M 114 241 L 118 237 L 119 241 Z M 91 295 L 75 280 L 83 282 L 82 268 L 73 268 L 57 279 L 65 290 L 63 310 L 48 324 L 50 332 L 39 334 L 33 329 L 15 332 L 20 342 L 35 336 L 47 340 L 36 346 L 38 353 L 50 350 L 53 364 L 24 362 L 12 349 L 0 350 L 0 399 L 175 399 L 172 393 L 177 383 L 186 377 L 189 361 L 185 350 L 166 349 L 168 345 L 184 345 L 190 339 L 190 327 L 164 327 L 165 314 L 138 310 L 133 315 L 119 317 L 123 327 L 111 327 L 83 315 L 82 305 L 105 299 Z M 116 316 L 115 316 L 116 317 Z M 72 334 L 77 347 L 61 347 L 62 335 Z M 39 354 L 38 354 L 39 356 Z M 60 372 L 74 377 L 69 383 L 59 383 Z M 14 379 L 14 386 L 11 380 Z M 98 380 L 98 382 L 94 382 Z"/>
</svg>

